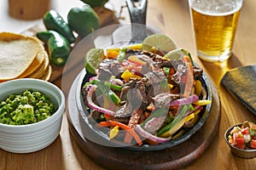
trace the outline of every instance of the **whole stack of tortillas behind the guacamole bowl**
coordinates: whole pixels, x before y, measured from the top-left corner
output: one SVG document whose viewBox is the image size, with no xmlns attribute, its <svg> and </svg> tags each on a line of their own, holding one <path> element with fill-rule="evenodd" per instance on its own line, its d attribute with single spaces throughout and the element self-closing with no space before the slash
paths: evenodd
<svg viewBox="0 0 256 170">
<path fill-rule="evenodd" d="M 49 81 L 49 55 L 37 37 L 0 32 L 0 83 L 18 78 Z"/>
</svg>

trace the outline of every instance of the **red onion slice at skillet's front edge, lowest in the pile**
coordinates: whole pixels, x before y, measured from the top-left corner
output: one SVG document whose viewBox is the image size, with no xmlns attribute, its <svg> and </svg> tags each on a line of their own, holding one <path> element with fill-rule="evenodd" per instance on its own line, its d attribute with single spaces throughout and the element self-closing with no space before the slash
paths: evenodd
<svg viewBox="0 0 256 170">
<path fill-rule="evenodd" d="M 143 138 L 145 139 L 150 139 L 156 143 L 166 143 L 169 142 L 172 139 L 172 136 L 168 137 L 168 138 L 160 138 L 157 136 L 154 136 L 153 134 L 148 133 L 147 131 L 145 131 L 143 129 L 143 127 L 141 127 L 140 125 L 136 125 L 135 130 L 137 131 L 137 133 L 139 133 L 140 135 L 143 136 Z"/>
</svg>

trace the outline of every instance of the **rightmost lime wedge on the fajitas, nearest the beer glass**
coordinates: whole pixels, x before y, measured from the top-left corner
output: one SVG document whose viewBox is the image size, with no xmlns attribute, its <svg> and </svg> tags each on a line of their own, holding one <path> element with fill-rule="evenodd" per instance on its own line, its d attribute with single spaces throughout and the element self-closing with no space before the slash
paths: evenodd
<svg viewBox="0 0 256 170">
<path fill-rule="evenodd" d="M 191 58 L 191 55 L 189 54 L 189 52 L 185 49 L 182 48 L 178 48 L 178 49 L 174 49 L 172 51 L 169 51 L 167 54 L 164 55 L 164 58 L 166 59 L 170 59 L 170 60 L 179 60 L 179 59 L 183 59 L 183 56 L 189 56 L 189 59 L 192 63 L 192 65 L 194 65 L 193 60 Z"/>
</svg>

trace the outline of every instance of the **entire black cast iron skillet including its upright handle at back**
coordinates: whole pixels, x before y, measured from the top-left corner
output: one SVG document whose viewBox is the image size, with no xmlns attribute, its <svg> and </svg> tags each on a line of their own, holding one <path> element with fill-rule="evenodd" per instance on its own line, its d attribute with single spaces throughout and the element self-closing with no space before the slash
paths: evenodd
<svg viewBox="0 0 256 170">
<path fill-rule="evenodd" d="M 147 8 L 147 0 L 138 0 L 138 1 L 131 1 L 126 0 L 127 7 L 129 8 L 129 12 L 131 14 L 131 25 L 128 26 L 128 31 L 131 31 L 131 37 L 125 39 L 123 37 L 119 37 L 116 35 L 126 34 L 127 26 L 118 26 L 119 28 L 113 31 L 112 33 L 112 43 L 108 44 L 106 43 L 104 47 L 119 47 L 131 43 L 137 43 L 142 42 L 145 37 L 147 37 L 150 34 L 153 33 L 160 33 L 160 31 L 155 30 L 151 27 L 145 26 L 145 20 L 146 20 L 146 8 Z M 137 3 L 137 4 L 135 4 Z M 136 7 L 137 5 L 137 7 Z M 99 47 L 96 47 L 99 48 Z M 104 130 L 100 130 L 98 127 L 95 126 L 96 122 L 91 122 L 89 116 L 89 112 L 86 108 L 86 105 L 84 104 L 84 96 L 82 93 L 82 88 L 84 86 L 85 82 L 89 82 L 89 78 L 92 77 L 90 73 L 86 73 L 85 70 L 81 71 L 78 75 L 78 83 L 76 87 L 76 105 L 80 114 L 80 117 L 82 117 L 80 120 L 84 123 L 81 124 L 81 129 L 83 130 L 84 137 L 86 139 L 89 139 L 93 143 L 106 145 L 109 147 L 123 147 L 127 150 L 138 150 L 138 151 L 153 151 L 153 150 L 164 150 L 167 148 L 171 148 L 173 146 L 176 146 L 177 144 L 181 144 L 184 141 L 188 140 L 193 134 L 195 134 L 206 122 L 207 117 L 210 114 L 212 105 L 207 105 L 204 107 L 204 110 L 200 113 L 200 119 L 198 122 L 196 122 L 195 126 L 189 129 L 188 132 L 184 133 L 183 136 L 181 136 L 179 139 L 171 140 L 170 142 L 164 143 L 164 144 L 157 144 L 157 145 L 148 145 L 143 144 L 142 146 L 138 147 L 137 144 L 125 144 L 118 140 L 109 140 L 108 139 L 108 133 L 104 132 Z M 212 91 L 210 88 L 210 84 L 208 81 L 208 77 L 206 75 L 203 76 L 203 78 L 200 80 L 202 83 L 203 88 L 207 90 L 207 99 L 212 99 Z M 107 129 L 107 128 L 105 128 Z"/>
</svg>

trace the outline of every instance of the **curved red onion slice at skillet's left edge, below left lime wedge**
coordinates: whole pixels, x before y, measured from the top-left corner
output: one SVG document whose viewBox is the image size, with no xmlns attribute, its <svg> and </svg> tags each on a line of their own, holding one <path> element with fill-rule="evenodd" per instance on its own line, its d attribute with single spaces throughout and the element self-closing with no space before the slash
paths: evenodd
<svg viewBox="0 0 256 170">
<path fill-rule="evenodd" d="M 95 103 L 93 103 L 93 101 L 92 101 L 92 94 L 95 92 L 95 90 L 96 90 L 96 86 L 92 85 L 90 87 L 89 91 L 88 91 L 87 96 L 86 96 L 87 105 L 90 107 L 90 109 L 94 109 L 96 111 L 100 111 L 100 112 L 105 113 L 105 114 L 110 115 L 110 116 L 114 116 L 115 112 L 110 111 L 110 110 L 105 109 L 105 108 L 102 108 L 102 107 L 96 105 Z"/>
</svg>

